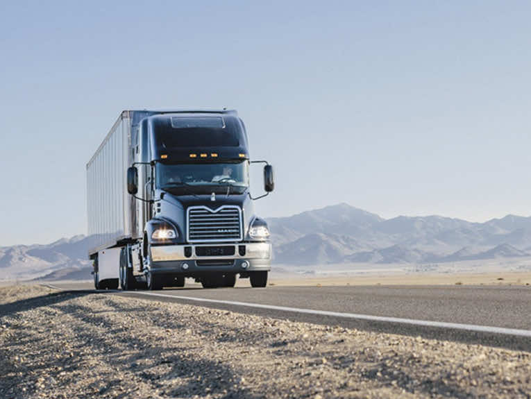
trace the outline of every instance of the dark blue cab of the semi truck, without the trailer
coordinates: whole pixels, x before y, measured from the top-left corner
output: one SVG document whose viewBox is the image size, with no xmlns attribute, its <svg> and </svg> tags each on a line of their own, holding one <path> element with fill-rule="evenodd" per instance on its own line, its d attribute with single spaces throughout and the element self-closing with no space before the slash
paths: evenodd
<svg viewBox="0 0 531 399">
<path fill-rule="evenodd" d="M 249 191 L 251 159 L 235 111 L 151 114 L 130 137 L 127 194 L 131 239 L 121 249 L 122 289 L 233 287 L 237 276 L 265 287 L 271 269 L 266 221 Z M 264 191 L 273 169 L 264 165 Z M 261 198 L 258 197 L 258 198 Z"/>
</svg>

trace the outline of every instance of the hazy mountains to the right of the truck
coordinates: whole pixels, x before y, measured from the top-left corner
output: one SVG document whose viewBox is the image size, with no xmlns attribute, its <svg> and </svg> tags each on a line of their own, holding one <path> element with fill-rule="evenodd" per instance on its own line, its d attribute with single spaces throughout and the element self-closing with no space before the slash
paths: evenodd
<svg viewBox="0 0 531 399">
<path fill-rule="evenodd" d="M 531 256 L 531 217 L 485 223 L 447 217 L 382 219 L 345 203 L 269 219 L 275 262 L 439 263 Z"/>
</svg>

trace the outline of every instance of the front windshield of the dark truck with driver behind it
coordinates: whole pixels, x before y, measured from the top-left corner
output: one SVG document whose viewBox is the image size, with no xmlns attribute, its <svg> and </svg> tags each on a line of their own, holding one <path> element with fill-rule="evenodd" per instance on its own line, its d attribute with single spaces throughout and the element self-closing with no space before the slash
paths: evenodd
<svg viewBox="0 0 531 399">
<path fill-rule="evenodd" d="M 219 164 L 161 164 L 155 166 L 159 189 L 174 194 L 242 194 L 248 187 L 248 161 Z"/>
</svg>

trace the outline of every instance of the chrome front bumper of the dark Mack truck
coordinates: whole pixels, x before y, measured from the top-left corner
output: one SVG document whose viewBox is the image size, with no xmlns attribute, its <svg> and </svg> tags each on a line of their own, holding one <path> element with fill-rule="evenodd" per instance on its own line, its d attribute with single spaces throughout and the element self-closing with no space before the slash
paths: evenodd
<svg viewBox="0 0 531 399">
<path fill-rule="evenodd" d="M 212 250 L 212 256 L 208 256 L 209 252 L 206 250 L 212 247 L 228 248 L 230 255 L 214 255 L 216 251 Z M 230 247 L 233 247 L 233 250 Z M 152 273 L 192 275 L 205 272 L 244 273 L 269 271 L 270 269 L 271 244 L 269 242 L 218 244 L 217 246 L 212 244 L 151 246 Z"/>
</svg>

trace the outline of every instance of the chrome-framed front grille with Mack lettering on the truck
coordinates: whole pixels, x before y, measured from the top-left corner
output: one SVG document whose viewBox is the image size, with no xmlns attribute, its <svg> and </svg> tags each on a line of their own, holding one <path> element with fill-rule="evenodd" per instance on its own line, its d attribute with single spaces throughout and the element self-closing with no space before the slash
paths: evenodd
<svg viewBox="0 0 531 399">
<path fill-rule="evenodd" d="M 242 240 L 242 212 L 235 205 L 223 205 L 217 210 L 189 207 L 187 219 L 188 242 Z"/>
</svg>

